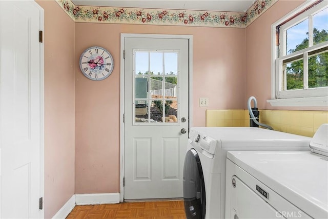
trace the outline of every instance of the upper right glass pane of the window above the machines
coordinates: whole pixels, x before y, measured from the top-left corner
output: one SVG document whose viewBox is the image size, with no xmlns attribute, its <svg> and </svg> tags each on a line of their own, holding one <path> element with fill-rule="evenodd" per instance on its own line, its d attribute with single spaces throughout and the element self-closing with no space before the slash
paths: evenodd
<svg viewBox="0 0 328 219">
<path fill-rule="evenodd" d="M 313 15 L 313 45 L 328 41 L 328 8 Z"/>
</svg>

